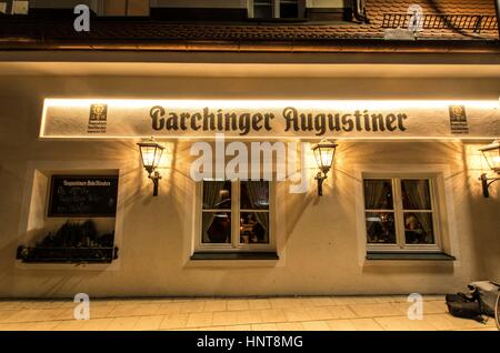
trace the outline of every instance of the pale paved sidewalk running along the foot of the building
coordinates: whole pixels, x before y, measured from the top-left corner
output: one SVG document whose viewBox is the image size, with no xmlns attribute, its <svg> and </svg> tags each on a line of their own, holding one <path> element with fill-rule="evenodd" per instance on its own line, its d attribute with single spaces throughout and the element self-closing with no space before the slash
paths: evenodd
<svg viewBox="0 0 500 353">
<path fill-rule="evenodd" d="M 407 296 L 166 297 L 93 300 L 90 320 L 72 301 L 0 301 L 0 330 L 487 330 L 448 314 L 443 295 L 424 296 L 423 320 L 409 320 Z"/>
</svg>

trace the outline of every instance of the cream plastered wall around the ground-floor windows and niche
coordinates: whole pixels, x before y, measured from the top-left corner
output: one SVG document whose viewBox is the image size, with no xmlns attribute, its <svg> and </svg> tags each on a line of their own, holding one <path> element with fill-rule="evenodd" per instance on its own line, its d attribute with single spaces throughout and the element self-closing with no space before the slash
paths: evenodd
<svg viewBox="0 0 500 353">
<path fill-rule="evenodd" d="M 436 293 L 471 280 L 500 280 L 499 188 L 484 200 L 478 145 L 449 142 L 343 142 L 324 195 L 278 190 L 279 262 L 193 262 L 194 184 L 188 178 L 190 143 L 168 143 L 160 195 L 141 168 L 133 141 L 40 141 L 46 97 L 116 98 L 486 98 L 493 79 L 264 79 L 153 77 L 0 77 L 0 296 L 244 295 Z M 33 165 L 98 162 L 120 169 L 120 259 L 83 269 L 19 264 L 26 239 Z M 357 236 L 358 164 L 429 164 L 449 170 L 456 224 L 456 262 L 366 262 Z M 478 164 L 479 163 L 479 164 Z M 90 165 L 89 164 L 89 165 Z M 41 165 L 41 167 L 40 167 Z M 72 168 L 72 167 L 71 167 Z M 27 199 L 28 198 L 28 199 Z M 34 212 L 32 210 L 31 212 Z M 21 229 L 21 230 L 20 230 Z"/>
</svg>

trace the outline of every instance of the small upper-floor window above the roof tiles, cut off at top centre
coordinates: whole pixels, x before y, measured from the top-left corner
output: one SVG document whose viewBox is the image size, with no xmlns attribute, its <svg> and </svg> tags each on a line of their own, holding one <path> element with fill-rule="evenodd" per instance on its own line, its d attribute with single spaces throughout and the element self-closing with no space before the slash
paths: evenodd
<svg viewBox="0 0 500 353">
<path fill-rule="evenodd" d="M 253 0 L 249 17 L 254 19 L 299 19 L 303 16 L 301 0 Z"/>
</svg>

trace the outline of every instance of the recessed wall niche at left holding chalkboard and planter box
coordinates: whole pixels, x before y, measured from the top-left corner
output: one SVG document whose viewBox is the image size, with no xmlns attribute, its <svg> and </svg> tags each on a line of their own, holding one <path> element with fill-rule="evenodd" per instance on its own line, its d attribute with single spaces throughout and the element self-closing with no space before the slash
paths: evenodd
<svg viewBox="0 0 500 353">
<path fill-rule="evenodd" d="M 118 170 L 34 170 L 23 263 L 111 263 L 118 259 Z"/>
</svg>

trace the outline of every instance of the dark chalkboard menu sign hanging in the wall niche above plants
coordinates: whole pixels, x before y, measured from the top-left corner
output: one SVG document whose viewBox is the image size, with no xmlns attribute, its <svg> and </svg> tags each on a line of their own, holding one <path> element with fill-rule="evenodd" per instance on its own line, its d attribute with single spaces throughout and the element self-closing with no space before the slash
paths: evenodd
<svg viewBox="0 0 500 353">
<path fill-rule="evenodd" d="M 118 175 L 52 175 L 48 216 L 114 216 Z"/>
</svg>

